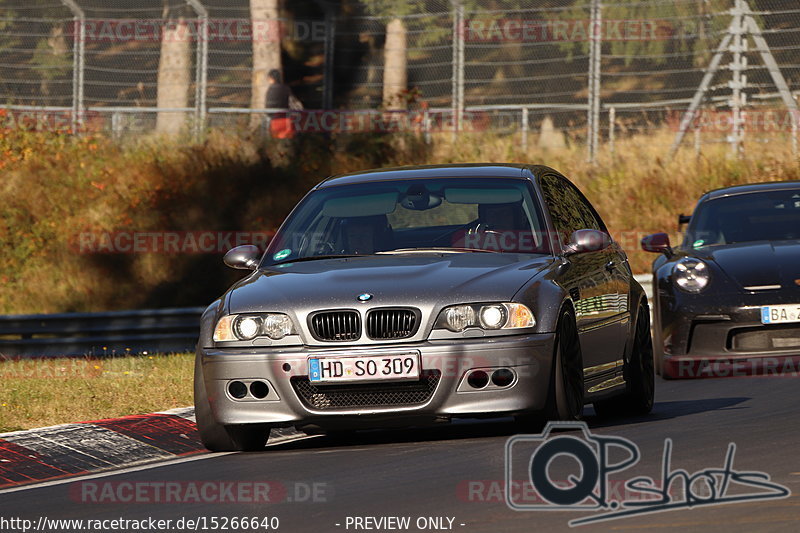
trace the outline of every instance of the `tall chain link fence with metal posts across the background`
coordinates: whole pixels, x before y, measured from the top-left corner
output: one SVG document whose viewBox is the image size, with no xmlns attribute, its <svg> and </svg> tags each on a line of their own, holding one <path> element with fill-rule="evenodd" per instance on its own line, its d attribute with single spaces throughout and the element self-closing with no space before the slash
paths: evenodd
<svg viewBox="0 0 800 533">
<path fill-rule="evenodd" d="M 251 98 L 253 48 L 275 43 L 304 132 L 385 130 L 402 116 L 397 129 L 585 144 L 589 158 L 634 135 L 673 151 L 796 150 L 796 0 L 280 5 L 258 20 L 248 0 L 4 1 L 4 120 L 116 135 L 252 126 L 271 114 Z M 388 80 L 404 89 L 387 93 Z"/>
</svg>

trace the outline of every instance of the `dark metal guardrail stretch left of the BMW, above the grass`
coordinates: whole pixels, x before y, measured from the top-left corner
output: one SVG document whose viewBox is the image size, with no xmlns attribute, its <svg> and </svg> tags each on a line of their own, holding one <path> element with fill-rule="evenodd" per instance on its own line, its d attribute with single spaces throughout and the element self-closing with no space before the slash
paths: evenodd
<svg viewBox="0 0 800 533">
<path fill-rule="evenodd" d="M 205 308 L 0 316 L 0 358 L 191 352 Z"/>
</svg>

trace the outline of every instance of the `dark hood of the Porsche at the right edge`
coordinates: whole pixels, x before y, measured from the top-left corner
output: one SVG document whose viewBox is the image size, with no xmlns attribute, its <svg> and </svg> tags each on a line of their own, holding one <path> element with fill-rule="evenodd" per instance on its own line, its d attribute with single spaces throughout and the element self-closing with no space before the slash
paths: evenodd
<svg viewBox="0 0 800 533">
<path fill-rule="evenodd" d="M 800 241 L 730 244 L 694 255 L 714 261 L 741 287 L 797 287 L 800 279 Z"/>
</svg>

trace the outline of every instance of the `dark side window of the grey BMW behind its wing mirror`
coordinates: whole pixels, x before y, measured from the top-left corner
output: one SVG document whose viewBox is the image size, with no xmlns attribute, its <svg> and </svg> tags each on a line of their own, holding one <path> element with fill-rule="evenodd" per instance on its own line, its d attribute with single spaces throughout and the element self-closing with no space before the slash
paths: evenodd
<svg viewBox="0 0 800 533">
<path fill-rule="evenodd" d="M 567 242 L 579 229 L 605 231 L 594 209 L 574 185 L 554 175 L 544 176 L 541 181 L 544 200 L 561 242 Z"/>
</svg>

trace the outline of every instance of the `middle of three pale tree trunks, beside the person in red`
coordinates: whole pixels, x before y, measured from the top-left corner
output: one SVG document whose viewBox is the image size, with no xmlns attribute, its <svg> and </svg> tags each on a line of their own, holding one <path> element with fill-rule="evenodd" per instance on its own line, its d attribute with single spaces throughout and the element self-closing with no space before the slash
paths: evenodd
<svg viewBox="0 0 800 533">
<path fill-rule="evenodd" d="M 281 64 L 281 31 L 279 0 L 250 0 L 250 17 L 253 23 L 253 73 L 250 83 L 250 109 L 262 109 L 267 94 L 267 73 Z M 260 37 L 259 37 L 260 36 Z M 261 118 L 253 115 L 251 125 Z"/>
</svg>

